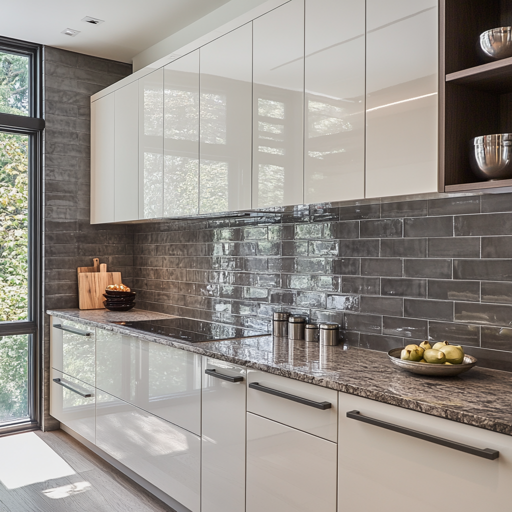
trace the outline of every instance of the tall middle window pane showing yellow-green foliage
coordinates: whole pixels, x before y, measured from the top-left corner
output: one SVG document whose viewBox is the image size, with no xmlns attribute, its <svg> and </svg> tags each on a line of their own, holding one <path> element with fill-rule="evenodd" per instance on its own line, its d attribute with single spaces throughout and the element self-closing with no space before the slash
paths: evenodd
<svg viewBox="0 0 512 512">
<path fill-rule="evenodd" d="M 0 132 L 0 321 L 28 316 L 29 137 Z"/>
</svg>

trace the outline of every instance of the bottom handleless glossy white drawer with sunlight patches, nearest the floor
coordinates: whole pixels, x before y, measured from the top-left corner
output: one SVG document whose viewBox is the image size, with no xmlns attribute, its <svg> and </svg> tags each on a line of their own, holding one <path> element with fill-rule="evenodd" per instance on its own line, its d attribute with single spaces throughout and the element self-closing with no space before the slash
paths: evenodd
<svg viewBox="0 0 512 512">
<path fill-rule="evenodd" d="M 96 444 L 192 512 L 201 508 L 201 439 L 108 393 L 96 398 Z"/>
</svg>

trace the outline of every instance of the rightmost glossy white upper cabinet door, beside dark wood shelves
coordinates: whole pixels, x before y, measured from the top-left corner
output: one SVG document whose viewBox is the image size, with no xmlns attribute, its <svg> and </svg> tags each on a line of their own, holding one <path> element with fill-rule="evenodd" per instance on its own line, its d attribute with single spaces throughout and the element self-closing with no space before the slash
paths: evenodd
<svg viewBox="0 0 512 512">
<path fill-rule="evenodd" d="M 437 1 L 366 9 L 366 197 L 436 191 Z"/>
</svg>

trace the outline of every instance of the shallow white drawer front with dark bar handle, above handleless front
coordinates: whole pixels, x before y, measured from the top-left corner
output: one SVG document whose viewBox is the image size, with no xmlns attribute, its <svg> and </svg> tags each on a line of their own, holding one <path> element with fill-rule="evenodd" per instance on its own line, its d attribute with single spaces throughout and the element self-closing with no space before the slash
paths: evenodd
<svg viewBox="0 0 512 512">
<path fill-rule="evenodd" d="M 267 390 L 283 392 L 292 397 L 317 403 L 328 402 L 331 407 L 330 409 L 317 409 L 312 404 L 307 405 L 294 401 L 291 399 L 292 397 L 274 396 L 261 390 L 252 389 L 250 384 L 256 382 Z M 332 389 L 248 369 L 247 411 L 329 441 L 337 441 L 338 393 Z"/>
</svg>

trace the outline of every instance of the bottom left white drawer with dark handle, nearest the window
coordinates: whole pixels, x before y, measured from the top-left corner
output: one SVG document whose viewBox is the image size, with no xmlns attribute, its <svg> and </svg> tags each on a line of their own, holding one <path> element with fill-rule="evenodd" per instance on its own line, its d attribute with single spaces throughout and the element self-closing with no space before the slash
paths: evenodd
<svg viewBox="0 0 512 512">
<path fill-rule="evenodd" d="M 50 415 L 95 443 L 96 390 L 54 368 L 50 376 Z"/>
</svg>

